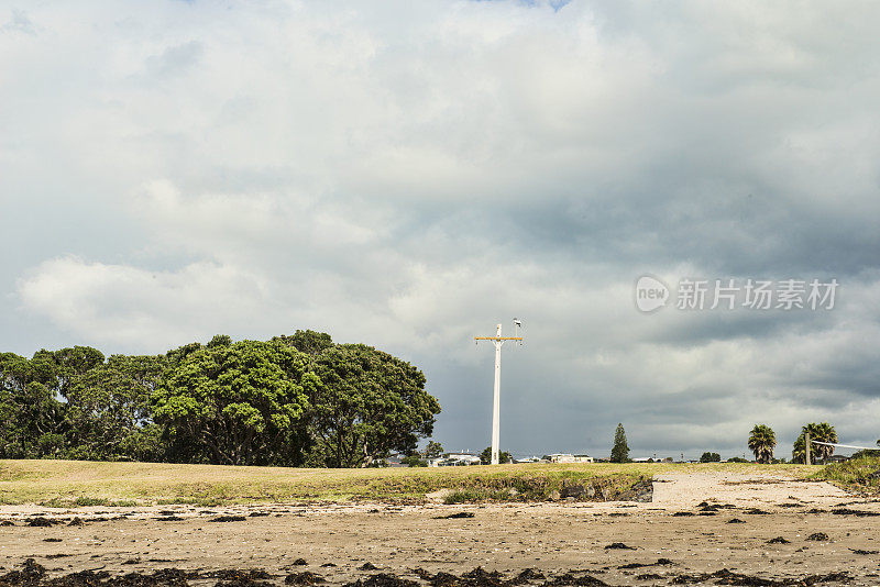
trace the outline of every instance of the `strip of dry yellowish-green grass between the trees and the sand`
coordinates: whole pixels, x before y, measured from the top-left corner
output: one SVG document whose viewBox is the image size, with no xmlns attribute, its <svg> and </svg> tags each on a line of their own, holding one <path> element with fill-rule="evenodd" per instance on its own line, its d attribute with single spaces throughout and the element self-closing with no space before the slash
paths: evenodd
<svg viewBox="0 0 880 587">
<path fill-rule="evenodd" d="M 757 468 L 756 468 L 757 467 Z M 564 486 L 592 485 L 609 499 L 652 475 L 761 470 L 804 478 L 815 467 L 721 463 L 529 464 L 495 467 L 316 469 L 87 461 L 0 461 L 0 503 L 48 507 L 249 502 L 417 503 L 448 489 L 447 501 L 544 500 Z M 587 499 L 587 498 L 584 498 Z M 601 499 L 595 497 L 594 499 Z"/>
</svg>

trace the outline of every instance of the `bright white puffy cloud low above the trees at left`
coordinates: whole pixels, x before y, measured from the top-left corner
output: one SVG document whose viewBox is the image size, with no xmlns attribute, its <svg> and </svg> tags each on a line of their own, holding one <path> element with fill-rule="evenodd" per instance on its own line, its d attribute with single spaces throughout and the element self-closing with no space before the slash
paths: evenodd
<svg viewBox="0 0 880 587">
<path fill-rule="evenodd" d="M 258 321 L 267 298 L 264 280 L 241 268 L 195 263 L 151 272 L 77 257 L 40 264 L 18 289 L 28 310 L 86 342 L 152 353 L 210 337 L 218 315 L 228 326 Z"/>
</svg>

